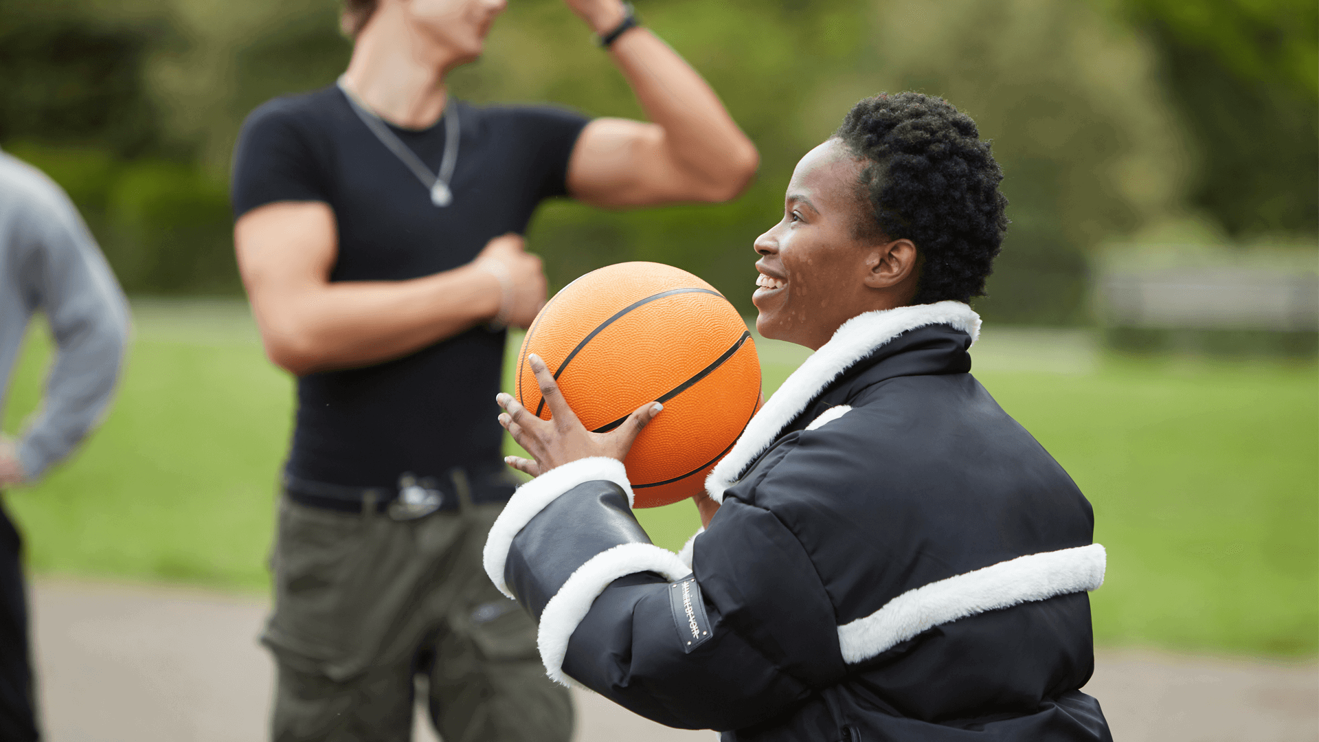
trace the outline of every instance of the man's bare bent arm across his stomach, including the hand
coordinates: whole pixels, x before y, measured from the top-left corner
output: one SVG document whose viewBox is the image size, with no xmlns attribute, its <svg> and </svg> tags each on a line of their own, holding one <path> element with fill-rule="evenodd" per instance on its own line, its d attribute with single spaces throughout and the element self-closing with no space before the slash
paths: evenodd
<svg viewBox="0 0 1319 742">
<path fill-rule="evenodd" d="M 266 355 L 295 375 L 371 366 L 495 318 L 526 326 L 545 301 L 541 260 L 495 238 L 472 263 L 406 281 L 330 281 L 339 236 L 318 201 L 253 209 L 233 226 Z"/>
</svg>

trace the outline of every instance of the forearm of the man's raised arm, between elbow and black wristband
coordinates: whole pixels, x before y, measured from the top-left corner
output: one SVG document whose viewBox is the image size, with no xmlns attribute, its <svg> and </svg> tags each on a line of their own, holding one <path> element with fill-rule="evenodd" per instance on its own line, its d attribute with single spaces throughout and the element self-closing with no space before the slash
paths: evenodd
<svg viewBox="0 0 1319 742">
<path fill-rule="evenodd" d="M 646 118 L 663 129 L 663 147 L 687 172 L 719 182 L 753 173 L 760 154 L 715 91 L 677 51 L 644 28 L 609 48 Z M 745 181 L 736 184 L 741 190 Z"/>
</svg>

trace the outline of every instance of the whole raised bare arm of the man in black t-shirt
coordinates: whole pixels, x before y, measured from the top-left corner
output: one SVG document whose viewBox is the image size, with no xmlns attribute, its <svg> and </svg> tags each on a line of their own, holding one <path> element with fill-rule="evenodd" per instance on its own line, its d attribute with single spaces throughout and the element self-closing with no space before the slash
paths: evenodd
<svg viewBox="0 0 1319 742">
<path fill-rule="evenodd" d="M 567 0 L 596 33 L 624 18 L 621 0 Z M 751 184 L 756 145 L 719 96 L 667 44 L 633 28 L 609 48 L 652 123 L 596 119 L 568 162 L 568 191 L 603 207 L 728 201 Z"/>
</svg>

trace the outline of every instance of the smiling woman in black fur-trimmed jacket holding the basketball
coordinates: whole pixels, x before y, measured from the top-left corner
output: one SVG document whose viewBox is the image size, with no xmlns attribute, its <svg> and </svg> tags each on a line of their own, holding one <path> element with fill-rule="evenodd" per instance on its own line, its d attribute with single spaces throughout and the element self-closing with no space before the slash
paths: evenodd
<svg viewBox="0 0 1319 742">
<path fill-rule="evenodd" d="M 1001 177 L 969 118 L 910 92 L 798 162 L 753 301 L 765 337 L 815 354 L 714 467 L 681 555 L 628 504 L 660 405 L 592 434 L 538 359 L 553 421 L 497 397 L 537 457 L 512 463 L 541 475 L 484 564 L 550 677 L 724 742 L 1111 742 L 1079 691 L 1107 564 L 1089 503 L 969 374 Z"/>
</svg>

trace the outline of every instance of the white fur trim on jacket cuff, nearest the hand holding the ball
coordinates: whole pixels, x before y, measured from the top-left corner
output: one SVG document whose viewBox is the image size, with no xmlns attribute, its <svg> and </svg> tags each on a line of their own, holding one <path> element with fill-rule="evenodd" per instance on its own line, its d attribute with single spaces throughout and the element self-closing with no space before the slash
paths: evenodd
<svg viewBox="0 0 1319 742">
<path fill-rule="evenodd" d="M 508 560 L 508 549 L 512 548 L 513 537 L 517 536 L 518 531 L 525 528 L 533 518 L 545 510 L 545 506 L 558 499 L 563 492 L 583 482 L 596 479 L 605 479 L 623 487 L 623 491 L 628 494 L 628 507 L 632 507 L 632 485 L 628 483 L 628 471 L 623 467 L 623 462 L 599 455 L 579 458 L 551 469 L 513 492 L 508 504 L 504 506 L 504 511 L 495 520 L 495 525 L 491 527 L 491 535 L 485 539 L 485 552 L 483 553 L 485 574 L 500 589 L 500 593 L 509 598 L 513 597 L 508 585 L 504 584 L 504 562 Z"/>
</svg>

